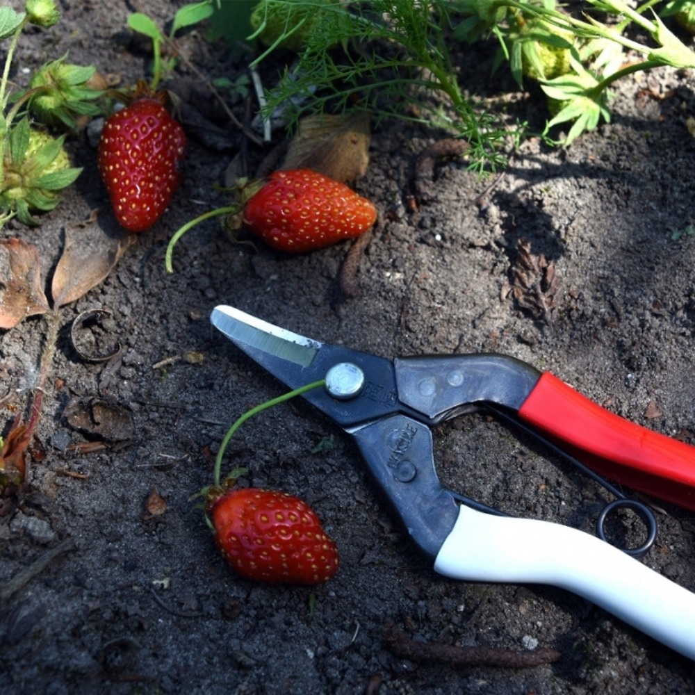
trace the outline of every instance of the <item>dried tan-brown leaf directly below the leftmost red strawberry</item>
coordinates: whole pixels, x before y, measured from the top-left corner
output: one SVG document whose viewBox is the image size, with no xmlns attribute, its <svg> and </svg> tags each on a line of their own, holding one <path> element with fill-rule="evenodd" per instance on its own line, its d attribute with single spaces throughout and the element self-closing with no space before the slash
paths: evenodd
<svg viewBox="0 0 695 695">
<path fill-rule="evenodd" d="M 51 287 L 56 309 L 78 300 L 104 280 L 131 243 L 132 235 L 101 229 L 97 211 L 86 222 L 66 227 L 65 249 Z"/>
</svg>

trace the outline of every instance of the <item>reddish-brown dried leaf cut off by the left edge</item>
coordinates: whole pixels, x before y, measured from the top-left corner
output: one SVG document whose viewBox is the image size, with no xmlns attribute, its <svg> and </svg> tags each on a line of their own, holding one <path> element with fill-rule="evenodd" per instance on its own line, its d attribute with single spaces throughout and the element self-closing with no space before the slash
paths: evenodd
<svg viewBox="0 0 695 695">
<path fill-rule="evenodd" d="M 38 249 L 21 239 L 0 240 L 0 328 L 50 307 L 41 287 Z"/>
</svg>

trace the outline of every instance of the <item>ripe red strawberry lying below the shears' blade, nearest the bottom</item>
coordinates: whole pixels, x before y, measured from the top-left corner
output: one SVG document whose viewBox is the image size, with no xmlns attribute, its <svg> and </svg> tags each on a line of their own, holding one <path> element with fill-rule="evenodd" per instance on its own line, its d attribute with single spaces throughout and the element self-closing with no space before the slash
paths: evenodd
<svg viewBox="0 0 695 695">
<path fill-rule="evenodd" d="M 220 491 L 220 489 L 217 489 Z M 243 577 L 320 584 L 338 571 L 338 550 L 311 507 L 284 492 L 233 488 L 206 504 L 215 543 Z"/>
</svg>

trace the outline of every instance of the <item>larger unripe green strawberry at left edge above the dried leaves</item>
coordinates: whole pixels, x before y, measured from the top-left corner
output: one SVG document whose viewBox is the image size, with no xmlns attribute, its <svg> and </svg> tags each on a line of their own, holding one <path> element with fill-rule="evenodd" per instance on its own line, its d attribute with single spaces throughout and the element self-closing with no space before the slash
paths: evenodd
<svg viewBox="0 0 695 695">
<path fill-rule="evenodd" d="M 65 136 L 54 138 L 30 129 L 26 118 L 15 126 L 3 161 L 2 213 L 15 213 L 24 224 L 37 224 L 32 212 L 49 211 L 58 204 L 60 190 L 82 171 L 70 167 L 64 140 Z"/>
</svg>

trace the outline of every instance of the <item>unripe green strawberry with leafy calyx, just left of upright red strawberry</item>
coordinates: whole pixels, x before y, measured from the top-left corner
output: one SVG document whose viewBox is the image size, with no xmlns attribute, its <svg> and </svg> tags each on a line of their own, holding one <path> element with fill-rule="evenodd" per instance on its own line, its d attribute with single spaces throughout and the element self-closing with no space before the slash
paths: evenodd
<svg viewBox="0 0 695 695">
<path fill-rule="evenodd" d="M 74 129 L 76 115 L 99 113 L 99 108 L 89 102 L 97 99 L 101 92 L 87 86 L 97 70 L 94 65 L 69 65 L 65 63 L 66 58 L 67 54 L 47 63 L 31 78 L 29 89 L 38 91 L 29 101 L 29 110 L 49 126 L 65 124 Z"/>
</svg>

